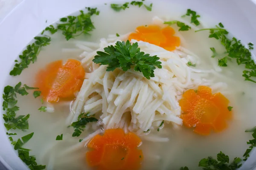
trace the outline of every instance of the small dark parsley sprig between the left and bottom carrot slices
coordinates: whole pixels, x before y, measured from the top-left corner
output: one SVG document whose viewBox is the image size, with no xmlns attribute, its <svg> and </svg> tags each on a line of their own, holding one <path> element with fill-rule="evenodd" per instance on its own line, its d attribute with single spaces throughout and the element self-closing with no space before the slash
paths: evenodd
<svg viewBox="0 0 256 170">
<path fill-rule="evenodd" d="M 84 115 L 84 112 L 81 113 L 77 119 L 77 122 L 73 122 L 70 126 L 73 126 L 75 128 L 74 133 L 72 134 L 72 136 L 80 136 L 81 135 L 81 131 L 84 131 L 84 127 L 87 125 L 87 123 L 89 122 L 97 122 L 98 119 L 94 118 L 94 117 L 89 117 L 87 116 L 87 114 Z"/>
</svg>

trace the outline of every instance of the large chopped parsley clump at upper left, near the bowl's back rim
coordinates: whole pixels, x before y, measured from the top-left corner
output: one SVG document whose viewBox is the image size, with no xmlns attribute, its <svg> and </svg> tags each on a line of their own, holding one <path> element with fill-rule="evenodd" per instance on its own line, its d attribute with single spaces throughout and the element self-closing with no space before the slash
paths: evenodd
<svg viewBox="0 0 256 170">
<path fill-rule="evenodd" d="M 67 16 L 60 19 L 60 24 L 55 28 L 50 25 L 45 28 L 45 31 L 49 31 L 51 34 L 55 34 L 58 30 L 62 31 L 66 40 L 77 37 L 80 34 L 89 34 L 89 31 L 95 29 L 91 21 L 92 15 L 99 15 L 97 8 L 87 8 L 88 12 L 85 14 L 84 11 L 80 11 L 78 16 Z"/>
</svg>

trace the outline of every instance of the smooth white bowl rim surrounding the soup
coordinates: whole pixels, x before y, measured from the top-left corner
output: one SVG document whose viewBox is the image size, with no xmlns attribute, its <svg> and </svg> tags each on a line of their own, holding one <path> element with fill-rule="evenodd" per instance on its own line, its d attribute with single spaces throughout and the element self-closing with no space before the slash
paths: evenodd
<svg viewBox="0 0 256 170">
<path fill-rule="evenodd" d="M 46 26 L 59 18 L 78 11 L 85 6 L 93 6 L 98 3 L 108 3 L 109 0 L 0 0 L 0 91 L 6 85 L 5 80 L 13 66 L 13 61 L 18 54 Z M 116 0 L 118 1 L 118 0 Z M 154 3 L 160 0 L 153 1 Z M 186 8 L 192 8 L 198 13 L 206 13 L 214 20 L 224 23 L 224 26 L 242 42 L 256 42 L 256 7 L 250 0 L 168 0 L 179 3 Z M 19 4 L 20 3 L 20 4 Z M 11 14 L 3 20 L 13 6 Z M 45 23 L 47 20 L 47 23 Z M 2 99 L 0 100 L 0 103 Z M 2 117 L 2 116 L 1 116 Z M 6 138 L 3 119 L 0 118 L 0 161 L 8 168 L 14 170 L 26 170 L 27 167 L 15 156 L 13 146 Z M 248 167 L 252 169 L 252 162 L 256 160 L 256 152 L 251 154 Z M 255 163 L 254 163 L 255 164 Z"/>
</svg>

